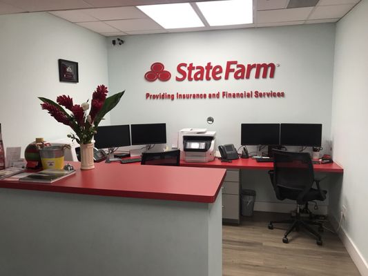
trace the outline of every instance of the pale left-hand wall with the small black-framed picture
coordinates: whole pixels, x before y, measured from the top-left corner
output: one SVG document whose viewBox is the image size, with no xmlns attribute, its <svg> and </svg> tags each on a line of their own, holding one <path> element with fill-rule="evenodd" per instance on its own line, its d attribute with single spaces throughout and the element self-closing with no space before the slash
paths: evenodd
<svg viewBox="0 0 368 276">
<path fill-rule="evenodd" d="M 4 146 L 21 146 L 23 155 L 35 137 L 66 138 L 71 128 L 41 110 L 37 97 L 66 94 L 82 103 L 97 85 L 107 86 L 105 38 L 47 13 L 1 15 L 0 37 Z M 59 82 L 58 59 L 79 63 L 79 83 Z"/>
</svg>

